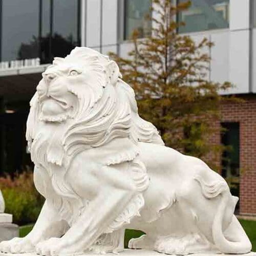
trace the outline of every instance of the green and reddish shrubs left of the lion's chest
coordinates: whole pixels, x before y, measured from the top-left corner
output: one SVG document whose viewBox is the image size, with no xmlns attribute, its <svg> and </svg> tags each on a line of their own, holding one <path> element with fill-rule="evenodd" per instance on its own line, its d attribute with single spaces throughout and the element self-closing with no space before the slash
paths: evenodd
<svg viewBox="0 0 256 256">
<path fill-rule="evenodd" d="M 32 172 L 0 178 L 0 189 L 5 199 L 5 211 L 13 215 L 14 223 L 20 225 L 36 221 L 44 198 L 34 187 Z"/>
</svg>

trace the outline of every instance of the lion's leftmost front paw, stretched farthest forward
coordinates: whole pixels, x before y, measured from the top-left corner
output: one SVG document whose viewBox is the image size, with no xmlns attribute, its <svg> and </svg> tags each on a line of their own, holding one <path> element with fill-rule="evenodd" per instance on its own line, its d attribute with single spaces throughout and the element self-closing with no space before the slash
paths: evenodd
<svg viewBox="0 0 256 256">
<path fill-rule="evenodd" d="M 7 253 L 24 253 L 34 250 L 34 245 L 27 238 L 13 238 L 0 243 L 0 251 Z"/>
</svg>

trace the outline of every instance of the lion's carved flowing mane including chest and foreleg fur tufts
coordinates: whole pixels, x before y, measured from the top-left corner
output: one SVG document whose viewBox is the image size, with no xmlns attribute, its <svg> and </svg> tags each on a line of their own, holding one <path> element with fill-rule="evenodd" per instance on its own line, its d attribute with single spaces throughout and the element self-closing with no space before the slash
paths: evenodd
<svg viewBox="0 0 256 256">
<path fill-rule="evenodd" d="M 70 224 L 79 214 L 79 211 L 75 214 L 70 207 L 70 200 L 75 198 L 79 209 L 86 206 L 81 204 L 80 197 L 56 168 L 64 167 L 67 171 L 75 156 L 83 151 L 87 151 L 90 161 L 106 166 L 125 161 L 130 163 L 131 177 L 139 194 L 105 230 L 105 234 L 112 233 L 111 236 L 99 238 L 112 241 L 116 236 L 115 230 L 139 215 L 144 205 L 142 191 L 147 188 L 149 178 L 139 158 L 138 142 L 164 143 L 156 127 L 138 115 L 134 90 L 121 79 L 116 62 L 92 49 L 76 47 L 67 57 L 55 58 L 49 69 L 54 67 L 58 72 L 61 65 L 71 63 L 86 71 L 88 76 L 88 79 L 82 80 L 82 86 L 81 81 L 79 86 L 76 82 L 68 86 L 67 93 L 72 93 L 77 99 L 74 115 L 45 120 L 41 117 L 36 92 L 30 101 L 27 121 L 28 147 L 35 166 L 44 166 L 53 189 L 60 197 L 51 198 L 52 194 L 47 194 L 50 193 L 49 188 L 42 188 L 40 193 L 54 204 L 59 214 Z"/>
</svg>

